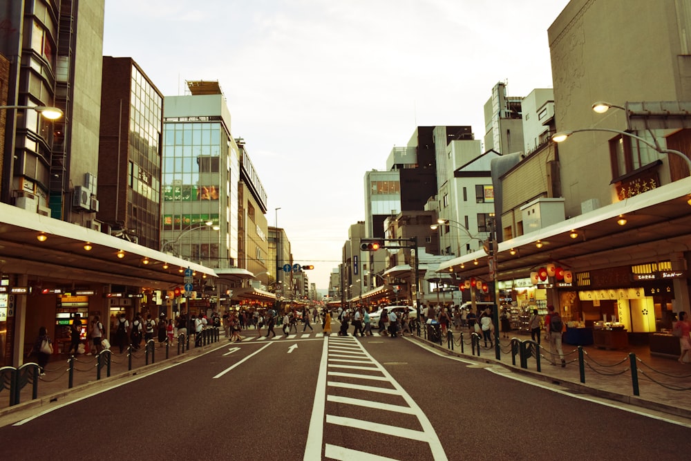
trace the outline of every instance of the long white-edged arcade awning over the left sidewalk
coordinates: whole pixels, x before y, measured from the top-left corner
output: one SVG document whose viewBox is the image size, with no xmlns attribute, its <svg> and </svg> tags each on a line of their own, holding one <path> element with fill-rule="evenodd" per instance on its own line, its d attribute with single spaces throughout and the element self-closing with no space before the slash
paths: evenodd
<svg viewBox="0 0 691 461">
<path fill-rule="evenodd" d="M 39 234 L 46 239 L 38 241 Z M 85 250 L 86 243 L 91 250 Z M 122 258 L 117 257 L 120 250 Z M 77 280 L 158 290 L 182 284 L 180 268 L 193 270 L 196 277 L 216 278 L 210 267 L 5 203 L 0 203 L 0 267 L 57 283 Z"/>
</svg>

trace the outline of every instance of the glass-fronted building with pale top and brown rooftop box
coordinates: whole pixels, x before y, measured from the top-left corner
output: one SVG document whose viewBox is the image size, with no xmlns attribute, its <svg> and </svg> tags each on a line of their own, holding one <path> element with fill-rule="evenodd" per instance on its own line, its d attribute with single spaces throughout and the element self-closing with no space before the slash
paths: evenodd
<svg viewBox="0 0 691 461">
<path fill-rule="evenodd" d="M 240 148 L 218 82 L 187 85 L 189 95 L 164 100 L 162 250 L 208 267 L 233 267 Z"/>
</svg>

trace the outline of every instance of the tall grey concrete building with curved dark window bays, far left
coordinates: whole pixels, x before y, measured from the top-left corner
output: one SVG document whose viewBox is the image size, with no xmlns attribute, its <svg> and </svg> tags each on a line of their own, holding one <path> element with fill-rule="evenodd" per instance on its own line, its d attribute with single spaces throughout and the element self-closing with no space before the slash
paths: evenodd
<svg viewBox="0 0 691 461">
<path fill-rule="evenodd" d="M 0 200 L 85 226 L 95 219 L 95 189 L 88 205 L 74 196 L 98 176 L 104 1 L 3 0 L 0 21 L 13 25 L 0 37 L 10 62 L 6 105 L 63 112 L 53 122 L 5 111 Z"/>
</svg>

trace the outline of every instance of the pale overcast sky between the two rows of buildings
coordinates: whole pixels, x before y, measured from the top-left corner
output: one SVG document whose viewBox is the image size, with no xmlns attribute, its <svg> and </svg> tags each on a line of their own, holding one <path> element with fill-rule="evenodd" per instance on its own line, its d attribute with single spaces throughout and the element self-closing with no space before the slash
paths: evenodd
<svg viewBox="0 0 691 461">
<path fill-rule="evenodd" d="M 106 0 L 103 54 L 132 57 L 163 95 L 219 82 L 267 222 L 323 291 L 365 219 L 366 171 L 416 126 L 470 125 L 483 140 L 498 82 L 509 96 L 552 88 L 547 28 L 567 3 Z"/>
</svg>

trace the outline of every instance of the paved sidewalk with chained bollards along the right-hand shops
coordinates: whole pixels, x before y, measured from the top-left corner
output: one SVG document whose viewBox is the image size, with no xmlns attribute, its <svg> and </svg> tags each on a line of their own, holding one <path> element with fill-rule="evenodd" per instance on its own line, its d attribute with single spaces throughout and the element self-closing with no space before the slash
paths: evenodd
<svg viewBox="0 0 691 461">
<path fill-rule="evenodd" d="M 424 339 L 424 335 L 423 337 L 415 336 L 417 341 L 424 341 L 439 350 L 453 353 L 464 359 L 481 361 L 486 364 L 499 363 L 511 368 L 514 373 L 521 373 L 532 379 L 556 384 L 574 393 L 595 395 L 616 402 L 691 419 L 691 364 L 680 364 L 676 357 L 651 355 L 648 346 L 629 346 L 625 350 L 603 350 L 595 346 L 582 346 L 585 383 L 581 383 L 578 346 L 562 345 L 567 361 L 567 366 L 562 368 L 560 365 L 551 364 L 552 355 L 549 351 L 549 344 L 543 340 L 540 347 L 541 370 L 538 372 L 535 357 L 528 359 L 527 368 L 521 368 L 520 356 L 517 354 L 515 365 L 513 365 L 511 338 L 525 341 L 530 339 L 530 335 L 529 333 L 512 332 L 509 339 L 502 338 L 500 341 L 501 360 L 498 361 L 495 358 L 495 349 L 484 348 L 484 341 L 480 342 L 482 345 L 480 356 L 473 355 L 469 333 L 464 332 L 463 335 L 464 352 L 461 352 L 460 338 L 457 332 L 454 332 L 453 351 L 449 350 L 446 341 L 442 346 Z M 638 395 L 634 395 L 630 352 L 636 356 Z"/>
</svg>

